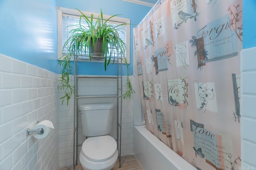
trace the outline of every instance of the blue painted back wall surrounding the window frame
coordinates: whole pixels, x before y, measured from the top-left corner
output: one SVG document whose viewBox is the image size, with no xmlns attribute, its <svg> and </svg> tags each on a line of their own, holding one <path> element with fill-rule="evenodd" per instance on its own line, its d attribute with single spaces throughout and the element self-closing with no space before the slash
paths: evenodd
<svg viewBox="0 0 256 170">
<path fill-rule="evenodd" d="M 142 21 L 148 14 L 151 7 L 125 2 L 122 0 L 57 0 L 57 6 L 71 9 L 79 9 L 86 12 L 93 12 L 100 14 L 102 9 L 105 15 L 121 14 L 120 17 L 129 18 L 132 24 L 130 25 L 130 63 L 129 73 L 133 74 L 133 33 L 132 29 Z M 123 65 L 124 66 L 124 65 Z M 79 74 L 89 75 L 116 75 L 116 66 L 110 64 L 105 72 L 103 63 L 79 63 Z M 95 69 L 96 68 L 96 69 Z M 123 69 L 123 75 L 126 75 L 126 69 Z"/>
</svg>

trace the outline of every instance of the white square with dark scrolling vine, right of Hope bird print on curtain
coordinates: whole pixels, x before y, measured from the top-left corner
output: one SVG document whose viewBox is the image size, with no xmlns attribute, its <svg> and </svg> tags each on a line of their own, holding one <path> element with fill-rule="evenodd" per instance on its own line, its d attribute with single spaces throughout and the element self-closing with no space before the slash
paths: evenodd
<svg viewBox="0 0 256 170">
<path fill-rule="evenodd" d="M 195 82 L 198 84 L 198 96 L 200 97 L 200 101 L 202 105 L 199 108 L 199 110 L 204 109 L 204 112 L 205 112 L 209 100 L 212 100 L 214 98 L 213 89 L 207 88 L 208 84 L 206 82 L 199 84 L 196 80 L 194 80 L 194 83 Z"/>
</svg>

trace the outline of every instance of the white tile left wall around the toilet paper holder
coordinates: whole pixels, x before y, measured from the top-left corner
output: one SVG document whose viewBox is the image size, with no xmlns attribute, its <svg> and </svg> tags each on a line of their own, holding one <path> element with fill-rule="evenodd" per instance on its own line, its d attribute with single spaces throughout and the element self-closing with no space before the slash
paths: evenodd
<svg viewBox="0 0 256 170">
<path fill-rule="evenodd" d="M 58 164 L 57 74 L 0 55 L 0 170 L 56 170 Z M 26 129 L 48 119 L 44 139 Z"/>
</svg>

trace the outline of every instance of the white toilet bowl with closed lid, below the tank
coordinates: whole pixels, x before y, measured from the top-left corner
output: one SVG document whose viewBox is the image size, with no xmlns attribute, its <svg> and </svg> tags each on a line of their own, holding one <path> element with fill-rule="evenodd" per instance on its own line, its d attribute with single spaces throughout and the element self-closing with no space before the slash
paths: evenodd
<svg viewBox="0 0 256 170">
<path fill-rule="evenodd" d="M 117 158 L 116 140 L 109 135 L 87 138 L 79 155 L 84 170 L 110 170 Z"/>
</svg>

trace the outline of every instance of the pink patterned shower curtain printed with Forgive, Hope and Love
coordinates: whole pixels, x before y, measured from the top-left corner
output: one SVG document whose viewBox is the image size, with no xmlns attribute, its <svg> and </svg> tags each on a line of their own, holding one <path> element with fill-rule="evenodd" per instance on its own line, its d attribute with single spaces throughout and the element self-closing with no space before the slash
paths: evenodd
<svg viewBox="0 0 256 170">
<path fill-rule="evenodd" d="M 198 170 L 237 170 L 242 0 L 159 0 L 133 30 L 147 129 Z"/>
</svg>

